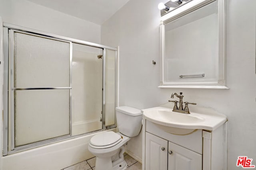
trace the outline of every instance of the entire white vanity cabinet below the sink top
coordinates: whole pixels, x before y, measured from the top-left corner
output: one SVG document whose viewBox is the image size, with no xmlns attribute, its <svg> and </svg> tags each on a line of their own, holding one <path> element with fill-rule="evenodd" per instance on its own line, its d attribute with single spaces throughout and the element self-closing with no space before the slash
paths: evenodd
<svg viewBox="0 0 256 170">
<path fill-rule="evenodd" d="M 142 170 L 225 170 L 225 124 L 175 135 L 143 119 Z"/>
</svg>

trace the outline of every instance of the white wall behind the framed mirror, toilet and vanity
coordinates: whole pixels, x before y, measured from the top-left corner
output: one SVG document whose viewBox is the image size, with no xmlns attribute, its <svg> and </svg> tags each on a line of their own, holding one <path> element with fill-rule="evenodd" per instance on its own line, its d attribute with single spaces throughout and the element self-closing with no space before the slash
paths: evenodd
<svg viewBox="0 0 256 170">
<path fill-rule="evenodd" d="M 157 88 L 161 75 L 160 2 L 130 0 L 102 25 L 102 44 L 120 46 L 120 106 L 154 107 L 166 103 L 172 92 L 183 92 L 185 101 L 227 115 L 228 170 L 241 169 L 236 167 L 238 156 L 248 156 L 256 165 L 256 1 L 226 0 L 226 72 L 230 90 Z M 190 109 L 193 107 L 197 106 Z M 141 140 L 141 136 L 136 137 L 127 147 L 140 158 Z"/>
</svg>

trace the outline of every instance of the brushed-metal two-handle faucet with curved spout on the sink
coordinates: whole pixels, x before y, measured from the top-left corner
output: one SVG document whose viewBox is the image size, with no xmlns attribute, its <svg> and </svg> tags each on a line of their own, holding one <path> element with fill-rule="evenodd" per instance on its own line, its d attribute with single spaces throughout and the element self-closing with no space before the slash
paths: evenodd
<svg viewBox="0 0 256 170">
<path fill-rule="evenodd" d="M 188 109 L 188 104 L 193 104 L 193 105 L 196 105 L 196 103 L 189 103 L 189 102 L 184 102 L 185 104 L 185 108 L 183 109 L 183 95 L 182 95 L 182 92 L 180 92 L 180 95 L 178 95 L 177 93 L 172 93 L 172 96 L 171 98 L 174 98 L 174 95 L 177 97 L 177 98 L 180 98 L 180 106 L 178 108 L 177 106 L 177 103 L 178 101 L 177 100 L 169 100 L 168 102 L 174 102 L 174 107 L 173 107 L 173 110 L 172 111 L 175 111 L 175 112 L 178 112 L 178 113 L 186 113 L 186 114 L 190 114 L 189 112 L 189 109 Z"/>
</svg>

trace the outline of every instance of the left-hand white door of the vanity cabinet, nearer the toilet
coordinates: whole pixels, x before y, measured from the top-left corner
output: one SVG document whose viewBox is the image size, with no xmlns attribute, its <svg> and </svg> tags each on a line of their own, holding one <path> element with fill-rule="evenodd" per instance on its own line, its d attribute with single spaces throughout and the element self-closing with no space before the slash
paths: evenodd
<svg viewBox="0 0 256 170">
<path fill-rule="evenodd" d="M 145 169 L 167 170 L 168 141 L 146 132 Z"/>
</svg>

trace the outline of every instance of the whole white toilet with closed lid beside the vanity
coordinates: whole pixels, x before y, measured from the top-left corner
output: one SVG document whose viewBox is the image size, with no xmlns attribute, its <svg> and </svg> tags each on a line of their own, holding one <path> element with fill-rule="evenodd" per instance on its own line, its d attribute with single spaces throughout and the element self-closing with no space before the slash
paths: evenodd
<svg viewBox="0 0 256 170">
<path fill-rule="evenodd" d="M 124 146 L 131 137 L 139 135 L 142 127 L 140 109 L 129 106 L 116 107 L 118 133 L 113 131 L 94 135 L 89 143 L 89 151 L 96 156 L 95 170 L 124 170 Z"/>
</svg>

